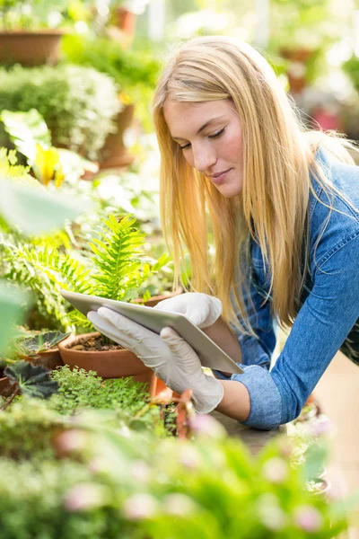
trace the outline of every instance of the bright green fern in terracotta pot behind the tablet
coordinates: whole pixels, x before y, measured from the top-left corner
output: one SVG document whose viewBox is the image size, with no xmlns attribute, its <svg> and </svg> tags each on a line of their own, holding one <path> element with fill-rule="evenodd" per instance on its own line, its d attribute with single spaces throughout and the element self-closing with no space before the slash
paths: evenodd
<svg viewBox="0 0 359 539">
<path fill-rule="evenodd" d="M 103 219 L 103 226 L 90 243 L 93 256 L 87 271 L 80 267 L 74 272 L 69 257 L 58 262 L 61 286 L 120 301 L 136 299 L 144 279 L 159 270 L 167 257 L 152 266 L 141 260 L 145 236 L 133 226 L 135 221 L 131 216 Z M 76 325 L 91 326 L 82 314 L 73 314 Z M 64 363 L 71 367 L 95 371 L 103 378 L 133 376 L 136 381 L 148 384 L 152 395 L 164 389 L 152 369 L 145 367 L 135 354 L 98 332 L 72 335 L 60 342 L 58 348 Z"/>
</svg>

